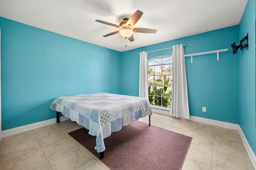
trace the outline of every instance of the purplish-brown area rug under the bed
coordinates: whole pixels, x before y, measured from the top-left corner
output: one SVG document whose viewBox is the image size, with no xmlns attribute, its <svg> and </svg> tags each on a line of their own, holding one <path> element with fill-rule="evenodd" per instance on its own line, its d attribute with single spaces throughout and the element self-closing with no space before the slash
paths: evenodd
<svg viewBox="0 0 256 170">
<path fill-rule="evenodd" d="M 85 128 L 70 132 L 76 141 L 94 150 L 96 137 Z M 112 170 L 180 170 L 192 138 L 146 123 L 134 121 L 104 139 L 106 150 L 101 160 Z"/>
</svg>

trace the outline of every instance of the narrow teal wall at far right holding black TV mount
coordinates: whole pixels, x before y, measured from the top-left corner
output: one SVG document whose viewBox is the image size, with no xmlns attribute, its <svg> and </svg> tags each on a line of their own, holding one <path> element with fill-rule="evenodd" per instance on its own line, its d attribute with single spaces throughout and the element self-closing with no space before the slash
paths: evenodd
<svg viewBox="0 0 256 170">
<path fill-rule="evenodd" d="M 239 24 L 239 39 L 248 33 L 249 49 L 239 53 L 239 125 L 256 153 L 255 1 L 249 0 Z"/>
</svg>

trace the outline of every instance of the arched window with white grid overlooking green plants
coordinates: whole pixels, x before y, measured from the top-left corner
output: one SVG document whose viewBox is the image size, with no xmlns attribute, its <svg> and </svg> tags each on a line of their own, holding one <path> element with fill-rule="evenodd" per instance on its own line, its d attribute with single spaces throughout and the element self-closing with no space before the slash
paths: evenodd
<svg viewBox="0 0 256 170">
<path fill-rule="evenodd" d="M 151 105 L 168 107 L 172 94 L 172 56 L 148 60 L 148 99 Z"/>
</svg>

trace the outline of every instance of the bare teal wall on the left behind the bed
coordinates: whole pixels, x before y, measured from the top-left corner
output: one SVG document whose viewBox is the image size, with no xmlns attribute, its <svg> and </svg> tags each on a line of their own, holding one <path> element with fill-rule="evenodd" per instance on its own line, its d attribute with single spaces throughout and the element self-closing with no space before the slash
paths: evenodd
<svg viewBox="0 0 256 170">
<path fill-rule="evenodd" d="M 56 117 L 59 96 L 120 93 L 120 52 L 0 18 L 2 130 Z"/>
</svg>

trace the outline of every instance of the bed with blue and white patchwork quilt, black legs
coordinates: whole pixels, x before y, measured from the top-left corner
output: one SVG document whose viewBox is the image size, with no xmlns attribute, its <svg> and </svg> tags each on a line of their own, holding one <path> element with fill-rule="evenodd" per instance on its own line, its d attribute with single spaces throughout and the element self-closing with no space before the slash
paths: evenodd
<svg viewBox="0 0 256 170">
<path fill-rule="evenodd" d="M 96 136 L 95 149 L 99 158 L 104 158 L 104 139 L 122 126 L 129 125 L 141 117 L 149 115 L 151 124 L 151 107 L 147 98 L 125 96 L 110 93 L 81 94 L 56 98 L 50 105 L 56 111 L 57 123 L 60 112 L 89 130 Z"/>
</svg>

